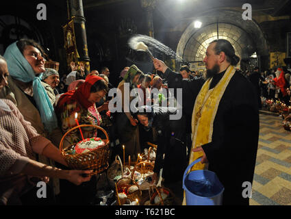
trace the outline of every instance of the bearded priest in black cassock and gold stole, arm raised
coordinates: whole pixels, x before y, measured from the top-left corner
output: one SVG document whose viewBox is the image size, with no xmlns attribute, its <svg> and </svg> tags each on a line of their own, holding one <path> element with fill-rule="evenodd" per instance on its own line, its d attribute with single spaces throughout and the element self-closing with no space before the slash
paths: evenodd
<svg viewBox="0 0 291 219">
<path fill-rule="evenodd" d="M 189 164 L 202 157 L 192 167 L 201 170 L 208 163 L 208 170 L 215 172 L 224 185 L 223 205 L 249 205 L 250 192 L 242 195 L 246 189 L 243 183 L 253 183 L 259 138 L 257 96 L 252 84 L 236 71 L 239 60 L 230 42 L 214 40 L 203 60 L 205 83 L 188 82 L 194 90 Z M 186 81 L 179 83 L 181 78 L 175 77 L 164 62 L 155 59 L 154 66 L 184 88 Z"/>
</svg>

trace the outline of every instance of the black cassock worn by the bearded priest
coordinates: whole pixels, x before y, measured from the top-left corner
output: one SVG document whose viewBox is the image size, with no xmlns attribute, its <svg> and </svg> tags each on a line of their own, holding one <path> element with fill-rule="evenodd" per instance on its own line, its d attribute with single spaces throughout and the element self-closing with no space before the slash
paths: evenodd
<svg viewBox="0 0 291 219">
<path fill-rule="evenodd" d="M 214 75 L 210 89 L 224 74 L 225 71 Z M 183 112 L 186 116 L 191 112 L 192 116 L 203 79 L 183 80 L 180 74 L 169 68 L 163 77 L 167 79 L 169 88 L 183 88 Z M 214 118 L 212 142 L 202 146 L 209 162 L 208 170 L 215 172 L 225 187 L 223 205 L 249 205 L 249 198 L 242 196 L 245 189 L 242 183 L 253 183 L 259 127 L 256 92 L 252 84 L 236 72 L 220 99 Z"/>
</svg>

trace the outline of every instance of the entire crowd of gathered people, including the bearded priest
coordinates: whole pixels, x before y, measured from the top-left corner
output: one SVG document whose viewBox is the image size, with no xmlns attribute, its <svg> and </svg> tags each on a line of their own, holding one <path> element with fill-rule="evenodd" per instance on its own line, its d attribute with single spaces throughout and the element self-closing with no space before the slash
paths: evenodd
<svg viewBox="0 0 291 219">
<path fill-rule="evenodd" d="M 153 183 L 163 168 L 164 185 L 170 188 L 178 183 L 176 195 L 181 200 L 184 170 L 203 157 L 192 170 L 209 164 L 207 168 L 216 172 L 225 186 L 224 204 L 249 204 L 249 198 L 241 194 L 242 183 L 253 181 L 259 133 L 257 99 L 261 92 L 269 98 L 289 95 L 290 99 L 287 70 L 278 68 L 264 78 L 257 75 L 257 79 L 252 79 L 252 73 L 246 79 L 234 67 L 239 57 L 232 45 L 227 40 L 214 40 L 203 60 L 203 76 L 189 66 L 181 66 L 175 73 L 157 59 L 153 59 L 156 74 L 143 73 L 134 64 L 125 66 L 116 86 L 122 107 L 114 112 L 112 107 L 118 103 L 110 107 L 115 96 L 109 95 L 114 88 L 109 68 L 86 75 L 84 66 L 71 63 L 71 73 L 60 77 L 57 70 L 45 68 L 44 55 L 40 44 L 22 39 L 0 57 L 1 204 L 42 203 L 36 197 L 38 181 L 46 181 L 51 189 L 45 204 L 95 204 L 97 178 L 88 177 L 90 170 L 70 170 L 58 150 L 64 133 L 77 126 L 76 115 L 79 124 L 107 131 L 110 162 L 116 154 L 121 155 L 122 145 L 125 154 L 135 159 L 149 146 L 146 142 L 157 144 Z M 171 120 L 178 112 L 181 117 Z M 91 128 L 83 131 L 85 138 L 93 133 Z M 66 136 L 64 146 L 81 139 L 76 129 Z"/>
</svg>

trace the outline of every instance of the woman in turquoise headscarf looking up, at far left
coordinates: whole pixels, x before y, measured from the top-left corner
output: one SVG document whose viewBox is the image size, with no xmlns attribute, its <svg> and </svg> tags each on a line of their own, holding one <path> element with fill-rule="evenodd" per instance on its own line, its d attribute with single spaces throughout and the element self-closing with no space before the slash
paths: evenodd
<svg viewBox="0 0 291 219">
<path fill-rule="evenodd" d="M 0 90 L 0 98 L 10 99 L 41 136 L 59 145 L 62 135 L 58 120 L 38 77 L 45 72 L 44 54 L 34 40 L 21 39 L 10 44 L 4 53 L 10 76 L 8 86 Z M 42 155 L 38 155 L 38 161 L 54 166 L 53 161 Z M 58 181 L 52 182 L 58 194 Z"/>
</svg>

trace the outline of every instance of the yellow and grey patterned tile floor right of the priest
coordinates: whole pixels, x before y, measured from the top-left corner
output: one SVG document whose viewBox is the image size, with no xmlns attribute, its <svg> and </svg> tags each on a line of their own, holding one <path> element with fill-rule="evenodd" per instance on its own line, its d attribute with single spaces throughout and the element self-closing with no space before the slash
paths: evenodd
<svg viewBox="0 0 291 219">
<path fill-rule="evenodd" d="M 291 205 L 291 132 L 260 111 L 260 139 L 250 205 Z"/>
</svg>

